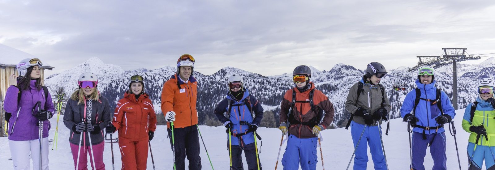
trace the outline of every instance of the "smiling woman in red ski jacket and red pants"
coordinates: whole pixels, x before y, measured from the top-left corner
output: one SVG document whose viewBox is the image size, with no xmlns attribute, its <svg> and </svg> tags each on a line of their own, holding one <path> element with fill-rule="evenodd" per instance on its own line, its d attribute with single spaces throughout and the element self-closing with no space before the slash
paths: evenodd
<svg viewBox="0 0 495 170">
<path fill-rule="evenodd" d="M 106 127 L 107 133 L 119 131 L 122 170 L 146 170 L 148 141 L 153 139 L 156 115 L 144 89 L 143 77 L 132 76 L 129 90 L 117 102 L 112 124 Z"/>
</svg>

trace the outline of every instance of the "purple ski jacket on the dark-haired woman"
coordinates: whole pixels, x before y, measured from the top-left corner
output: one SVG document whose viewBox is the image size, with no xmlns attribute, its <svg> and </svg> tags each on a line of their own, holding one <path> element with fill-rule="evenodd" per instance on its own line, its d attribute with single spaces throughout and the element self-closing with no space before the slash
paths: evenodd
<svg viewBox="0 0 495 170">
<path fill-rule="evenodd" d="M 37 89 L 35 83 L 36 80 L 32 80 L 29 89 L 22 90 L 19 103 L 17 103 L 19 88 L 14 85 L 10 85 L 7 88 L 3 108 L 6 112 L 12 113 L 8 124 L 9 140 L 34 140 L 39 138 L 38 119 L 33 116 L 33 112 L 38 112 L 38 108 L 34 108 L 36 102 L 41 101 L 42 110 L 55 113 L 50 93 L 48 92 L 48 96 L 45 96 L 43 88 Z M 50 121 L 46 120 L 43 122 L 43 137 L 48 137 L 49 129 Z"/>
</svg>

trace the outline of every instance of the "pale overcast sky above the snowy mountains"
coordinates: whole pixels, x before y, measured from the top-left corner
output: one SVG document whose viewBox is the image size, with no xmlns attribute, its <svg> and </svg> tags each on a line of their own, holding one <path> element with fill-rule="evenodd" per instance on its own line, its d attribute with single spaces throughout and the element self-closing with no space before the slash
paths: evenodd
<svg viewBox="0 0 495 170">
<path fill-rule="evenodd" d="M 185 53 L 203 74 L 372 61 L 390 70 L 442 47 L 494 53 L 494 16 L 493 0 L 0 0 L 0 43 L 38 56 L 51 73 L 90 57 L 151 70 Z"/>
</svg>

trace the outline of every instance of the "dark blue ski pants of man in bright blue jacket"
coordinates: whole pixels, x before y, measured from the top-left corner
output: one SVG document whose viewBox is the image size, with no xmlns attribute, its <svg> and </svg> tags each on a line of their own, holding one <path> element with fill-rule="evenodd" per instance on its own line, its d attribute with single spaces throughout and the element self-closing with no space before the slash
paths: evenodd
<svg viewBox="0 0 495 170">
<path fill-rule="evenodd" d="M 430 146 L 430 153 L 433 158 L 432 170 L 447 170 L 447 156 L 445 132 L 427 134 L 423 139 L 423 134 L 419 132 L 412 133 L 412 169 L 425 170 L 426 149 Z"/>
</svg>

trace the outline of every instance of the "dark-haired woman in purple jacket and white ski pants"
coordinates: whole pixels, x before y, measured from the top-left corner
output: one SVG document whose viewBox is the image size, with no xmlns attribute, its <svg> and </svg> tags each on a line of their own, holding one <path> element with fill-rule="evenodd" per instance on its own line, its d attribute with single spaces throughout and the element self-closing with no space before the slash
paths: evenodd
<svg viewBox="0 0 495 170">
<path fill-rule="evenodd" d="M 8 144 L 14 170 L 31 170 L 30 154 L 34 170 L 48 170 L 48 119 L 53 116 L 55 108 L 50 93 L 41 85 L 42 65 L 37 58 L 24 59 L 16 66 L 19 77 L 15 74 L 9 77 L 10 86 L 5 93 L 3 108 L 5 112 L 12 113 L 8 120 Z M 40 122 L 43 124 L 41 145 Z M 39 163 L 40 155 L 42 165 Z"/>
</svg>

